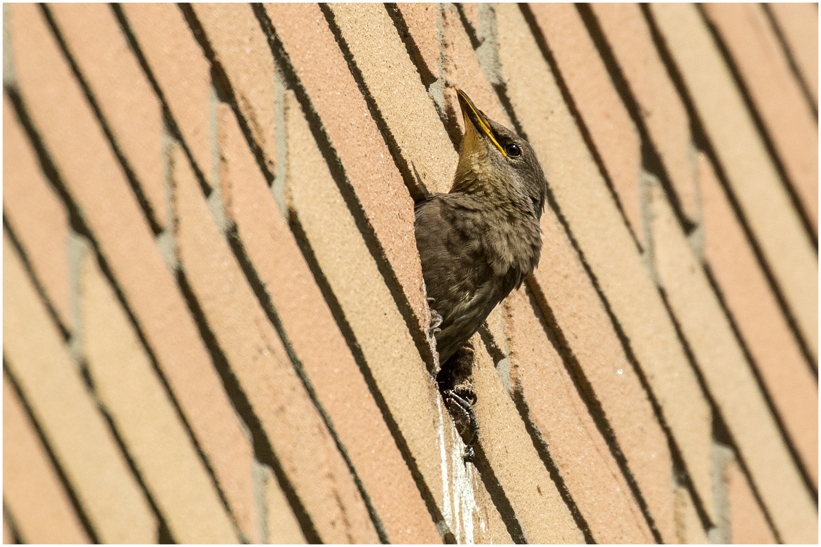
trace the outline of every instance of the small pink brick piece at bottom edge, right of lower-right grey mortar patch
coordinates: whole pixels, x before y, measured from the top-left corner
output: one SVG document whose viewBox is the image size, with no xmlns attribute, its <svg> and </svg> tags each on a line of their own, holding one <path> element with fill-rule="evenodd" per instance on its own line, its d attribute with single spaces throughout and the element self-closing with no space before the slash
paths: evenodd
<svg viewBox="0 0 821 547">
<path fill-rule="evenodd" d="M 736 544 L 777 543 L 764 513 L 755 503 L 747 479 L 738 463 L 727 463 L 724 471 L 730 504 L 730 534 Z"/>
</svg>

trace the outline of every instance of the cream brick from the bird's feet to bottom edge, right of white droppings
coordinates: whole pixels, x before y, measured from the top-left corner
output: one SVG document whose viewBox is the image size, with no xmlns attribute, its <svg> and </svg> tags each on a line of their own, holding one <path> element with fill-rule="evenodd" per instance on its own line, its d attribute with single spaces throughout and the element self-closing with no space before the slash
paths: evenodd
<svg viewBox="0 0 821 547">
<path fill-rule="evenodd" d="M 580 543 L 581 531 L 550 479 L 479 335 L 473 381 L 479 440 L 530 543 Z"/>
</svg>

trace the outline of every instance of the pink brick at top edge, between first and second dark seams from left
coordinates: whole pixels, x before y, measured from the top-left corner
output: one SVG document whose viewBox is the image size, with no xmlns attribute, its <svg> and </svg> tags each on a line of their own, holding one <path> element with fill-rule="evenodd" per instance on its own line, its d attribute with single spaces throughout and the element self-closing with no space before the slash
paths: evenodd
<svg viewBox="0 0 821 547">
<path fill-rule="evenodd" d="M 55 3 L 50 9 L 159 225 L 166 226 L 163 165 L 157 161 L 163 110 L 111 7 Z"/>
</svg>

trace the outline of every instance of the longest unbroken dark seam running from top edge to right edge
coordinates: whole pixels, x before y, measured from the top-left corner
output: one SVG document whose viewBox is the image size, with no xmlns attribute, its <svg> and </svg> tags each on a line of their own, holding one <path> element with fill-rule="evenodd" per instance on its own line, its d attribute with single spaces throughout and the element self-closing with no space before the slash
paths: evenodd
<svg viewBox="0 0 821 547">
<path fill-rule="evenodd" d="M 810 346 L 805 341 L 804 335 L 801 334 L 798 327 L 798 321 L 796 321 L 796 317 L 793 314 L 789 303 L 787 303 L 787 299 L 784 296 L 780 283 L 773 274 L 773 268 L 770 267 L 768 259 L 764 257 L 764 250 L 761 248 L 758 239 L 756 239 L 753 230 L 750 227 L 750 221 L 747 220 L 747 216 L 741 209 L 741 204 L 738 202 L 736 194 L 732 190 L 727 173 L 724 171 L 722 163 L 718 160 L 718 153 L 716 153 L 713 143 L 709 139 L 707 131 L 704 129 L 704 124 L 701 121 L 701 117 L 695 110 L 695 104 L 693 103 L 693 99 L 690 97 L 690 92 L 687 90 L 684 78 L 681 75 L 681 71 L 679 71 L 676 61 L 672 58 L 672 53 L 669 51 L 669 48 L 667 48 L 667 40 L 664 39 L 661 34 L 661 30 L 658 29 L 658 25 L 656 25 L 654 16 L 650 12 L 649 7 L 647 7 L 646 4 L 640 4 L 640 8 L 642 14 L 644 15 L 644 20 L 647 21 L 647 25 L 649 27 L 650 34 L 653 37 L 653 42 L 658 51 L 658 55 L 661 57 L 662 62 L 667 69 L 667 75 L 670 76 L 670 80 L 681 98 L 681 103 L 684 104 L 687 117 L 690 120 L 690 133 L 693 135 L 694 143 L 696 147 L 708 157 L 709 162 L 713 167 L 713 171 L 715 171 L 716 178 L 722 186 L 724 194 L 727 195 L 727 200 L 730 203 L 730 207 L 732 207 L 732 211 L 736 214 L 736 219 L 741 225 L 741 229 L 744 230 L 744 235 L 750 244 L 750 248 L 753 249 L 755 258 L 759 262 L 761 270 L 764 271 L 764 276 L 767 278 L 772 294 L 778 302 L 778 307 L 781 308 L 782 315 L 787 320 L 787 325 L 792 331 L 792 335 L 795 337 L 801 353 L 804 354 L 807 366 L 810 367 L 810 371 L 813 372 L 814 376 L 818 378 L 818 362 L 816 362 L 816 360 L 812 357 Z"/>
</svg>

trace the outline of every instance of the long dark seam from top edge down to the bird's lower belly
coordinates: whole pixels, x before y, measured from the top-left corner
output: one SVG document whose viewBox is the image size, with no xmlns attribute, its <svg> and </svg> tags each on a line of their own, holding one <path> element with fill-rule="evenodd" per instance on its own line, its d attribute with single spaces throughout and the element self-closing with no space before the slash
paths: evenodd
<svg viewBox="0 0 821 547">
<path fill-rule="evenodd" d="M 308 121 L 311 134 L 313 134 L 314 140 L 319 147 L 319 152 L 322 153 L 325 162 L 328 164 L 328 171 L 331 172 L 333 180 L 337 183 L 342 198 L 345 200 L 348 210 L 354 218 L 356 227 L 360 231 L 363 239 L 365 239 L 365 245 L 374 258 L 385 284 L 388 285 L 388 289 L 391 291 L 393 300 L 397 304 L 401 317 L 405 320 L 408 332 L 414 340 L 416 348 L 424 360 L 425 366 L 428 367 L 429 372 L 431 372 L 435 367 L 435 361 L 428 337 L 422 330 L 420 321 L 417 321 L 415 311 L 411 307 L 396 273 L 393 271 L 387 253 L 385 253 L 382 244 L 379 242 L 374 226 L 371 225 L 364 208 L 356 196 L 351 181 L 347 178 L 345 168 L 342 166 L 342 160 L 338 156 L 336 148 L 333 147 L 332 141 L 324 128 L 322 120 L 319 118 L 319 113 L 316 112 L 311 102 L 311 98 L 305 86 L 302 85 L 296 75 L 296 69 L 292 65 L 291 59 L 288 57 L 282 45 L 282 41 L 278 38 L 276 30 L 273 28 L 273 23 L 271 23 L 268 18 L 267 12 L 265 12 L 264 7 L 261 7 L 259 4 L 254 4 L 253 7 L 257 15 L 257 20 L 263 29 L 266 39 L 268 39 L 268 45 L 273 53 L 274 61 L 277 62 L 277 66 L 281 67 L 289 89 L 292 89 L 296 94 L 297 102 L 300 103 L 302 112 L 305 114 L 305 119 Z"/>
</svg>

